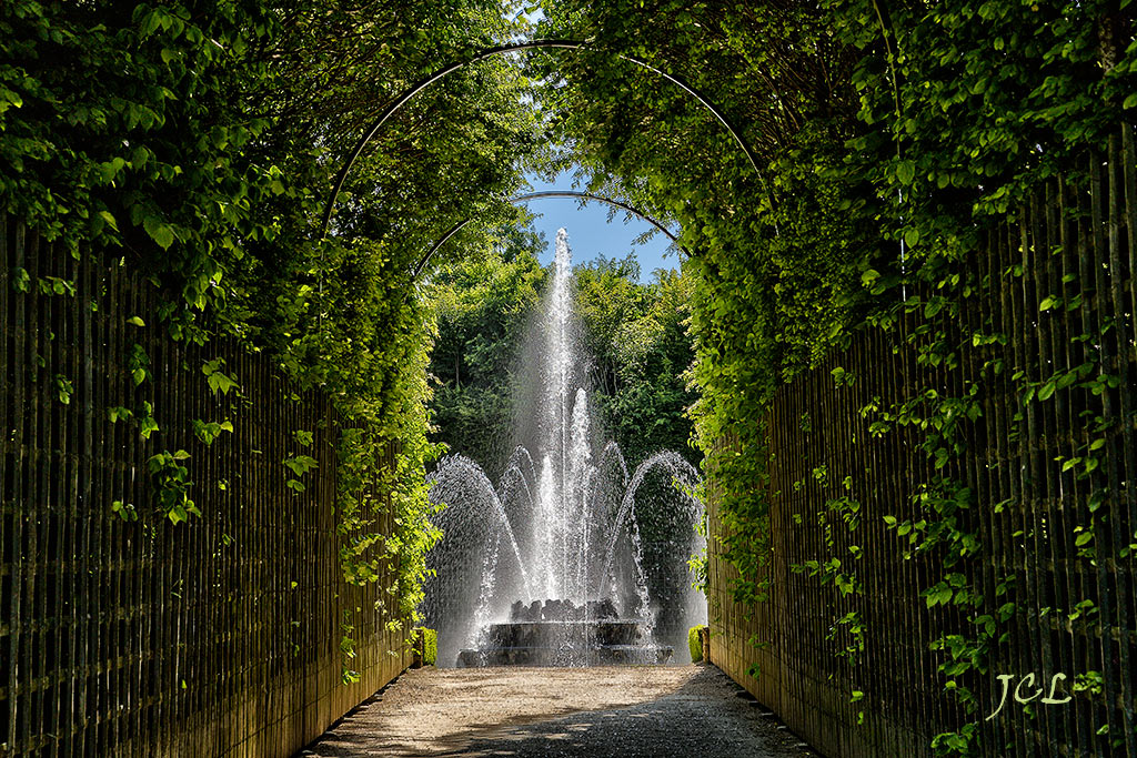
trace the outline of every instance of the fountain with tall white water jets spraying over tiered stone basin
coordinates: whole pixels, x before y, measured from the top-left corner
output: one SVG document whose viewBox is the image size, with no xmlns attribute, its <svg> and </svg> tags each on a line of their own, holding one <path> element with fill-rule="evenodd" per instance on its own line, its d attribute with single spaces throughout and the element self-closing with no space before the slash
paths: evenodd
<svg viewBox="0 0 1137 758">
<path fill-rule="evenodd" d="M 687 628 L 706 622 L 687 565 L 705 547 L 698 473 L 666 450 L 629 472 L 598 439 L 572 276 L 562 228 L 531 335 L 539 360 L 524 370 L 528 432 L 498 483 L 464 456 L 431 476 L 431 500 L 447 506 L 423 603 L 440 665 L 684 660 Z"/>
</svg>

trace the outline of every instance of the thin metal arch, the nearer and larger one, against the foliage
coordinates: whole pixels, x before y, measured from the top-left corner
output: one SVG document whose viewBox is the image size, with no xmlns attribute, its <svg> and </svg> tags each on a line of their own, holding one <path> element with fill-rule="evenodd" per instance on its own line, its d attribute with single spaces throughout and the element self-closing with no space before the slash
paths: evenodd
<svg viewBox="0 0 1137 758">
<path fill-rule="evenodd" d="M 321 227 L 321 236 L 322 238 L 327 236 L 327 227 L 332 220 L 332 211 L 335 207 L 335 200 L 337 198 L 339 198 L 340 190 L 343 188 L 343 182 L 347 181 L 347 176 L 348 173 L 351 170 L 351 166 L 354 166 L 355 161 L 359 158 L 359 153 L 363 152 L 364 147 L 366 147 L 366 144 L 371 141 L 371 139 L 375 136 L 375 134 L 379 132 L 380 128 L 382 128 L 383 124 L 385 124 L 387 120 L 391 116 L 393 116 L 396 111 L 399 110 L 399 108 L 409 102 L 415 95 L 425 90 L 428 86 L 439 81 L 440 78 L 449 74 L 453 74 L 459 68 L 468 66 L 470 64 L 475 64 L 480 60 L 485 60 L 488 58 L 493 58 L 496 56 L 501 56 L 508 52 L 516 52 L 518 50 L 542 50 L 542 49 L 583 50 L 590 47 L 592 47 L 590 43 L 582 42 L 579 40 L 533 40 L 531 42 L 517 42 L 514 44 L 503 44 L 496 48 L 485 48 L 483 50 L 478 51 L 466 60 L 448 64 L 442 68 L 435 70 L 433 74 L 429 74 L 426 77 L 412 84 L 409 88 L 404 90 L 401 94 L 395 98 L 395 100 L 388 103 L 385 108 L 383 108 L 382 113 L 371 125 L 371 128 L 368 128 L 364 133 L 364 135 L 359 139 L 359 141 L 356 142 L 355 147 L 351 149 L 350 155 L 345 161 L 343 167 L 340 168 L 339 173 L 335 175 L 335 183 L 332 186 L 332 192 L 327 198 L 327 205 L 324 207 L 324 220 Z M 669 74 L 659 68 L 656 68 L 646 60 L 641 60 L 639 58 L 625 55 L 619 55 L 619 57 L 622 58 L 623 60 L 628 60 L 638 66 L 641 66 L 648 69 L 649 72 L 658 74 L 659 76 L 675 84 L 684 92 L 687 92 L 696 100 L 698 100 L 699 105 L 709 110 L 714 115 L 714 117 L 719 119 L 719 123 L 721 123 L 727 128 L 727 131 L 730 132 L 730 135 L 735 139 L 735 142 L 738 143 L 738 147 L 741 148 L 742 152 L 746 155 L 746 159 L 750 163 L 750 168 L 753 168 L 754 173 L 756 173 L 758 177 L 762 178 L 762 173 L 758 170 L 758 163 L 754 158 L 754 152 L 750 150 L 750 147 L 742 139 L 741 132 L 738 130 L 738 127 L 735 126 L 735 124 L 724 113 L 719 110 L 719 108 L 715 107 L 713 102 L 711 102 L 711 100 L 706 95 L 704 95 L 694 86 L 684 82 L 679 76 Z"/>
</svg>

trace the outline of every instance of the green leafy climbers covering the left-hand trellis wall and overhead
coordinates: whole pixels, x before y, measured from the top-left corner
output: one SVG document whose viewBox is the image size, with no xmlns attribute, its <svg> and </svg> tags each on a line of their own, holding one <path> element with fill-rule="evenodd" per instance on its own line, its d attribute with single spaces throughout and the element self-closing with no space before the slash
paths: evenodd
<svg viewBox="0 0 1137 758">
<path fill-rule="evenodd" d="M 514 217 L 500 198 L 520 185 L 513 166 L 536 145 L 524 78 L 501 60 L 448 77 L 363 152 L 332 239 L 319 217 L 376 103 L 458 51 L 511 38 L 520 27 L 508 18 L 480 0 L 0 8 L 0 210 L 76 256 L 147 272 L 168 293 L 151 328 L 196 342 L 236 335 L 301 386 L 331 394 L 346 430 L 345 577 L 374 581 L 380 565 L 395 567 L 404 618 L 438 536 L 423 478 L 438 451 L 426 438 L 433 318 L 409 272 L 455 218 Z M 127 364 L 136 385 L 163 381 L 139 345 Z M 240 393 L 219 358 L 201 377 L 214 393 Z M 69 400 L 65 376 L 59 397 Z M 123 399 L 107 410 L 144 439 L 159 428 L 151 411 Z M 193 431 L 215 439 L 226 423 L 198 419 Z M 393 464 L 380 466 L 390 450 Z M 150 459 L 159 508 L 175 523 L 194 513 L 177 455 Z M 308 460 L 299 451 L 285 460 L 293 490 L 305 486 L 299 469 L 316 465 Z M 389 500 L 374 494 L 384 490 Z M 384 539 L 376 518 L 389 507 L 397 533 Z"/>
</svg>

